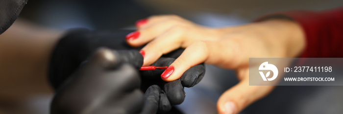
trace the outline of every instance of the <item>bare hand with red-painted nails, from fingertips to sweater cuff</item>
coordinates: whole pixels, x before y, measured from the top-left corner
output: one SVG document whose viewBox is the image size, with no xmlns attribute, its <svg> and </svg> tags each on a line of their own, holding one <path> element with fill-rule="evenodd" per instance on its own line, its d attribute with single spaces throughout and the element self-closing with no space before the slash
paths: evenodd
<svg viewBox="0 0 343 114">
<path fill-rule="evenodd" d="M 126 42 L 134 47 L 147 44 L 142 48 L 143 66 L 172 50 L 186 48 L 170 65 L 175 70 L 168 78 L 162 77 L 164 81 L 182 79 L 187 69 L 200 63 L 236 70 L 240 83 L 221 95 L 217 103 L 219 114 L 237 114 L 274 88 L 248 86 L 248 58 L 296 57 L 305 46 L 300 26 L 282 19 L 208 28 L 175 15 L 162 15 L 147 18 L 137 31 L 140 36 Z"/>
</svg>

